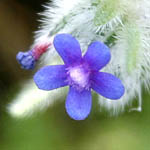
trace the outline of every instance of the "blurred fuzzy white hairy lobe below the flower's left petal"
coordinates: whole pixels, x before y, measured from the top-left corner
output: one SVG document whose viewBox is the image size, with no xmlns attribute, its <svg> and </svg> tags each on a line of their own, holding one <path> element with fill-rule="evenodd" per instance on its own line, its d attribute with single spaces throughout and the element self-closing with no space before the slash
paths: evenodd
<svg viewBox="0 0 150 150">
<path fill-rule="evenodd" d="M 28 81 L 20 94 L 8 106 L 8 112 L 13 117 L 30 116 L 35 111 L 43 111 L 56 100 L 63 100 L 64 88 L 46 92 L 39 90 L 33 81 Z"/>
</svg>

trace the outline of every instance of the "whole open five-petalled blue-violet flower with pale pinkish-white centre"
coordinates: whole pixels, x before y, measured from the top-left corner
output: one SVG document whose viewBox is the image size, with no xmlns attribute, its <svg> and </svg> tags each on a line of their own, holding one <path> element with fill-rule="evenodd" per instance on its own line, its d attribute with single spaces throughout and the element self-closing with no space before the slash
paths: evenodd
<svg viewBox="0 0 150 150">
<path fill-rule="evenodd" d="M 99 72 L 110 60 L 109 48 L 101 42 L 93 42 L 82 57 L 78 41 L 69 34 L 58 34 L 54 47 L 64 65 L 46 66 L 34 75 L 39 89 L 53 90 L 70 86 L 66 99 L 66 111 L 75 120 L 84 120 L 91 111 L 91 89 L 108 99 L 119 99 L 124 94 L 120 79 Z"/>
</svg>

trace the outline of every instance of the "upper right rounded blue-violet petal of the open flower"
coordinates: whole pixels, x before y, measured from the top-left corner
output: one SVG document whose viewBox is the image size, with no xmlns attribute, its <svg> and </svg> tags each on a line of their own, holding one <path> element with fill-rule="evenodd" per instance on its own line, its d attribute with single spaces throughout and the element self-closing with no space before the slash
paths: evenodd
<svg viewBox="0 0 150 150">
<path fill-rule="evenodd" d="M 100 70 L 109 62 L 110 57 L 110 50 L 104 43 L 93 42 L 83 58 L 93 70 Z"/>
</svg>

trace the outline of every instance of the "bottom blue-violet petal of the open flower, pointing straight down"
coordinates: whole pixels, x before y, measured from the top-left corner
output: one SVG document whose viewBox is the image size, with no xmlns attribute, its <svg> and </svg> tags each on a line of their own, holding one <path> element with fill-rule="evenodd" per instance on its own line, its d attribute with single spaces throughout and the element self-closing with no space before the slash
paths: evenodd
<svg viewBox="0 0 150 150">
<path fill-rule="evenodd" d="M 74 120 L 84 120 L 90 113 L 92 106 L 91 91 L 77 91 L 70 87 L 67 100 L 66 111 Z"/>
</svg>

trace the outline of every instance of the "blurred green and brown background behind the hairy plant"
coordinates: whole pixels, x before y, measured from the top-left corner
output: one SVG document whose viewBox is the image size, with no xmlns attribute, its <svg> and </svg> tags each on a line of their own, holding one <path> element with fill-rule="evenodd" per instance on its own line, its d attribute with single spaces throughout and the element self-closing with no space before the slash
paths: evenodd
<svg viewBox="0 0 150 150">
<path fill-rule="evenodd" d="M 33 74 L 20 69 L 15 56 L 32 44 L 46 2 L 0 0 L 0 150 L 150 150 L 150 95 L 144 91 L 143 111 L 127 109 L 118 117 L 100 112 L 96 96 L 84 121 L 71 120 L 64 101 L 30 118 L 7 113 L 21 81 Z"/>
</svg>

